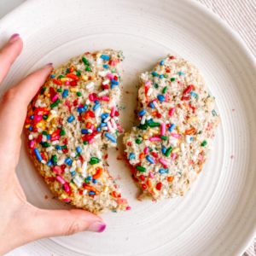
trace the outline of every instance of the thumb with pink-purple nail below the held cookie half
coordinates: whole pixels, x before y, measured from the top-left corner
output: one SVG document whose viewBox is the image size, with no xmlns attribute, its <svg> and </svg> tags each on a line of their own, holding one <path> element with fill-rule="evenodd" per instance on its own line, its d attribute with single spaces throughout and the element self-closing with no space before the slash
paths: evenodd
<svg viewBox="0 0 256 256">
<path fill-rule="evenodd" d="M 37 209 L 30 222 L 33 238 L 70 236 L 81 231 L 102 232 L 106 224 L 99 216 L 84 210 L 42 210 Z"/>
</svg>

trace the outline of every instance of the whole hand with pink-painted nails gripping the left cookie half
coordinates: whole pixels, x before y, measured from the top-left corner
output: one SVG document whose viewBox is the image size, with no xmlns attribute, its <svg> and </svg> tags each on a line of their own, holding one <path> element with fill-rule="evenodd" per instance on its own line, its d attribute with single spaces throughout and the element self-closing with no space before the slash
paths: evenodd
<svg viewBox="0 0 256 256">
<path fill-rule="evenodd" d="M 22 50 L 13 35 L 0 49 L 0 84 Z M 20 155 L 20 135 L 26 108 L 52 71 L 52 64 L 38 69 L 8 90 L 0 104 L 0 255 L 15 247 L 49 236 L 69 236 L 88 230 L 102 232 L 102 218 L 84 210 L 43 210 L 26 201 L 15 173 Z"/>
</svg>

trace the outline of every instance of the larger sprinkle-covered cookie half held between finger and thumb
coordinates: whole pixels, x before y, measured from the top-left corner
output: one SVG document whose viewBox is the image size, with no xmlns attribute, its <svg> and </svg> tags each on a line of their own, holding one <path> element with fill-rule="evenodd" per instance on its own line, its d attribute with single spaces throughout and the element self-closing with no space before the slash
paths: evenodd
<svg viewBox="0 0 256 256">
<path fill-rule="evenodd" d="M 74 57 L 27 108 L 27 145 L 39 174 L 61 201 L 96 214 L 131 209 L 107 167 L 107 150 L 123 132 L 123 59 L 112 49 Z"/>
</svg>

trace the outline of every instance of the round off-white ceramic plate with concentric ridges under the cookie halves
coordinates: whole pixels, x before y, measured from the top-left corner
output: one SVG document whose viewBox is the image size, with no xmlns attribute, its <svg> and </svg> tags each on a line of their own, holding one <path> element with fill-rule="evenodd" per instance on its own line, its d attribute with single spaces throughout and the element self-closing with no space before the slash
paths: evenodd
<svg viewBox="0 0 256 256">
<path fill-rule="evenodd" d="M 110 153 L 110 171 L 113 177 L 121 177 L 123 195 L 133 210 L 102 216 L 107 223 L 102 234 L 83 232 L 35 241 L 9 255 L 240 256 L 246 250 L 256 227 L 256 79 L 253 55 L 236 32 L 200 3 L 189 0 L 31 0 L 1 20 L 0 44 L 14 32 L 23 38 L 24 50 L 3 82 L 1 96 L 45 63 L 58 67 L 85 51 L 122 49 L 121 123 L 128 131 L 134 118 L 138 73 L 173 53 L 201 69 L 216 97 L 222 123 L 210 160 L 183 198 L 137 201 L 125 161 L 116 160 L 122 152 L 119 138 L 119 151 L 113 148 Z M 67 208 L 50 199 L 25 148 L 17 173 L 32 204 Z"/>
</svg>

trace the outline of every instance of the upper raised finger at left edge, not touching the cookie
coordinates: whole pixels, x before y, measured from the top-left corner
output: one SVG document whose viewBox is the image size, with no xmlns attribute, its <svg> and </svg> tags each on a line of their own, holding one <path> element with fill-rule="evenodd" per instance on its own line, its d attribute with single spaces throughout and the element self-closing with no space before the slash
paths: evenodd
<svg viewBox="0 0 256 256">
<path fill-rule="evenodd" d="M 9 42 L 0 49 L 0 84 L 9 72 L 9 68 L 20 55 L 23 48 L 23 42 L 19 34 L 14 34 L 9 38 Z"/>
</svg>

